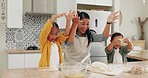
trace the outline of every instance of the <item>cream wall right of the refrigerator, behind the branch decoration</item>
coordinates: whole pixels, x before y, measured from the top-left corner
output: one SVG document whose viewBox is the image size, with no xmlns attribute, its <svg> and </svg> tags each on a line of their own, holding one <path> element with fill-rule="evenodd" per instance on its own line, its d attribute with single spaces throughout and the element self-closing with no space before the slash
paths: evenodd
<svg viewBox="0 0 148 78">
<path fill-rule="evenodd" d="M 132 38 L 133 35 L 137 35 L 140 39 L 140 26 L 138 23 L 138 17 L 142 20 L 148 17 L 148 1 L 146 0 L 145 6 L 142 0 L 120 0 L 120 9 L 122 13 L 122 21 L 120 25 L 120 32 L 122 32 L 125 37 Z M 148 49 L 148 21 L 145 24 L 145 40 L 146 49 Z"/>
</svg>

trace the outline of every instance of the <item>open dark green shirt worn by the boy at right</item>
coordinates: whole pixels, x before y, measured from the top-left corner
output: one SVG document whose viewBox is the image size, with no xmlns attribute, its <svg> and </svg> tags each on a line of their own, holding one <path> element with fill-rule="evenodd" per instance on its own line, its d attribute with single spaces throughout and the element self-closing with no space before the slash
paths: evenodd
<svg viewBox="0 0 148 78">
<path fill-rule="evenodd" d="M 127 54 L 130 52 L 131 50 L 127 49 L 127 45 L 126 46 L 121 46 L 119 49 L 119 53 L 122 56 L 122 62 L 127 62 Z M 113 63 L 114 60 L 114 54 L 115 54 L 115 49 L 113 48 L 111 51 L 108 51 L 107 49 L 105 49 L 106 55 L 107 55 L 107 61 L 108 63 Z"/>
</svg>

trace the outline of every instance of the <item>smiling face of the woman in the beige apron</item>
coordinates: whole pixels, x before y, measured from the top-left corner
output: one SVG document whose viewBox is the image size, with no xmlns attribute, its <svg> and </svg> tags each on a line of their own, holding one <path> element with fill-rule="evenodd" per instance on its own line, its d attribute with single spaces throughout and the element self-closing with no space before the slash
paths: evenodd
<svg viewBox="0 0 148 78">
<path fill-rule="evenodd" d="M 86 30 L 89 28 L 90 19 L 84 18 L 81 19 L 81 22 L 78 24 L 78 33 L 80 35 L 84 34 Z"/>
</svg>

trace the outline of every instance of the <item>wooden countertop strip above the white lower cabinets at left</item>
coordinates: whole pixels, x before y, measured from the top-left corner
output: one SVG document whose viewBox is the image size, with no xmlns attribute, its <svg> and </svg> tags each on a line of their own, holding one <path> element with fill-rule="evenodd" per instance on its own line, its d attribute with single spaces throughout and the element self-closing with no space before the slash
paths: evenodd
<svg viewBox="0 0 148 78">
<path fill-rule="evenodd" d="M 8 54 L 40 53 L 40 50 L 6 50 Z"/>
</svg>

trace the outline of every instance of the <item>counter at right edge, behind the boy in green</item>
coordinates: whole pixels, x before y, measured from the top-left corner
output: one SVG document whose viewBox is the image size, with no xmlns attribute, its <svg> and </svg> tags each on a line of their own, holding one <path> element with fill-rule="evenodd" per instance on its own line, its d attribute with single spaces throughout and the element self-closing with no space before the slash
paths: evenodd
<svg viewBox="0 0 148 78">
<path fill-rule="evenodd" d="M 127 57 L 142 61 L 148 61 L 148 50 L 132 51 L 128 53 Z"/>
</svg>

